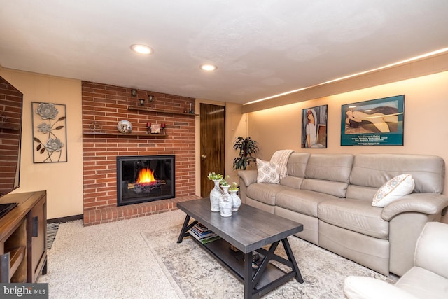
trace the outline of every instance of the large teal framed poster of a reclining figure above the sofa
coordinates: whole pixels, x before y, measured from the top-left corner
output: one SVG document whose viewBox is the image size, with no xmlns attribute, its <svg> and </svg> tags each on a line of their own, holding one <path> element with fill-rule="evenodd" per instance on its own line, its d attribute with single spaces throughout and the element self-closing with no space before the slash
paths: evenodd
<svg viewBox="0 0 448 299">
<path fill-rule="evenodd" d="M 342 105 L 341 146 L 402 146 L 405 95 Z"/>
</svg>

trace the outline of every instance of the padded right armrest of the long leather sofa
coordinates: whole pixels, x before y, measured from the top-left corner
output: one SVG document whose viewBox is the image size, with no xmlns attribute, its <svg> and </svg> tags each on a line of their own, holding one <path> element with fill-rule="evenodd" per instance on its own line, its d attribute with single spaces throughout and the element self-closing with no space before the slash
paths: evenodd
<svg viewBox="0 0 448 299">
<path fill-rule="evenodd" d="M 448 197 L 437 193 L 411 193 L 384 207 L 381 218 L 385 221 L 405 212 L 418 212 L 428 215 L 442 214 L 448 207 Z"/>
</svg>

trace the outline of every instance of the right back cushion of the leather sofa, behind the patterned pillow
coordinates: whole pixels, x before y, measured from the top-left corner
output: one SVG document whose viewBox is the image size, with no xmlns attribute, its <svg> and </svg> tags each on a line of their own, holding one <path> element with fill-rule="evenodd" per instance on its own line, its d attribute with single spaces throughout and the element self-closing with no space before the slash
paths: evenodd
<svg viewBox="0 0 448 299">
<path fill-rule="evenodd" d="M 394 176 L 411 174 L 415 183 L 414 193 L 442 193 L 444 169 L 444 160 L 435 155 L 358 154 L 353 160 L 350 183 L 380 188 Z"/>
</svg>

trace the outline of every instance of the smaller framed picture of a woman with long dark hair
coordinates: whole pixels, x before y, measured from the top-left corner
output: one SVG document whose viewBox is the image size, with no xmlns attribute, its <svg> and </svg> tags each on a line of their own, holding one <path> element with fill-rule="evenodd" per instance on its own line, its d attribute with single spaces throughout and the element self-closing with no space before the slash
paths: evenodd
<svg viewBox="0 0 448 299">
<path fill-rule="evenodd" d="M 302 109 L 302 148 L 327 148 L 328 105 Z"/>
</svg>

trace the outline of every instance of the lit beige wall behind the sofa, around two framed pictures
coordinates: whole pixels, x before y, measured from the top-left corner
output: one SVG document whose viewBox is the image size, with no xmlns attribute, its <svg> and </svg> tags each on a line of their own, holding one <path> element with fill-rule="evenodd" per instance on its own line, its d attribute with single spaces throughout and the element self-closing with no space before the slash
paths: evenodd
<svg viewBox="0 0 448 299">
<path fill-rule="evenodd" d="M 404 146 L 341 146 L 341 105 L 405 95 Z M 328 105 L 328 147 L 302 149 L 302 109 Z M 260 143 L 258 158 L 274 151 L 309 153 L 415 153 L 439 155 L 448 162 L 448 71 L 339 95 L 248 113 L 248 135 Z M 444 194 L 448 195 L 448 176 Z M 445 217 L 445 221 L 448 221 Z"/>
</svg>

